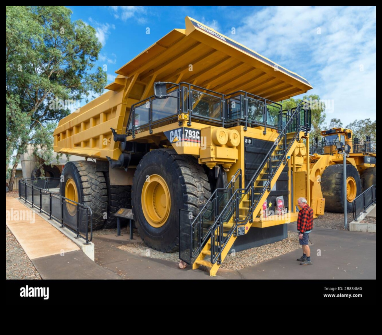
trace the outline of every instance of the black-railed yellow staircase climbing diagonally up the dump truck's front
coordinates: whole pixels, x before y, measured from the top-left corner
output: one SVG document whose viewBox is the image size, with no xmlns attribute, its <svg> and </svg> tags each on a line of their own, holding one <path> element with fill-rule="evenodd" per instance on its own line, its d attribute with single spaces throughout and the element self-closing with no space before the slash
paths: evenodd
<svg viewBox="0 0 382 335">
<path fill-rule="evenodd" d="M 225 189 L 220 189 L 221 191 L 215 190 L 195 218 L 190 217 L 186 211 L 180 210 L 181 237 L 179 256 L 181 260 L 191 264 L 201 253 L 207 241 L 210 240 L 210 262 L 212 264 L 216 262 L 220 264 L 224 245 L 233 234 L 238 234 L 238 226 L 243 226 L 251 220 L 259 200 L 266 190 L 270 190 L 270 182 L 273 176 L 280 165 L 286 163 L 286 154 L 295 140 L 299 138 L 299 131 L 305 130 L 307 135 L 310 130 L 311 110 L 309 107 L 306 108 L 306 104 L 303 101 L 293 108 L 288 115 L 288 120 L 283 130 L 278 135 L 275 143 L 264 157 L 264 160 L 259 165 L 246 188 L 241 188 L 241 170 L 239 169 Z M 290 133 L 293 133 L 293 136 L 288 137 Z M 275 151 L 277 151 L 278 159 L 275 159 Z M 264 179 L 261 179 L 261 181 L 257 180 L 261 174 Z M 235 185 L 237 181 L 239 181 L 238 186 Z M 255 182 L 259 184 L 255 185 Z M 231 189 L 233 191 L 228 193 L 227 191 Z M 225 193 L 226 196 L 222 197 L 222 193 Z M 249 210 L 245 217 L 241 218 L 239 213 L 241 209 L 240 200 L 246 195 L 250 199 Z M 224 231 L 224 224 L 228 223 L 232 217 L 233 224 L 231 228 L 228 231 Z M 207 229 L 205 229 L 205 226 L 207 226 Z"/>
</svg>

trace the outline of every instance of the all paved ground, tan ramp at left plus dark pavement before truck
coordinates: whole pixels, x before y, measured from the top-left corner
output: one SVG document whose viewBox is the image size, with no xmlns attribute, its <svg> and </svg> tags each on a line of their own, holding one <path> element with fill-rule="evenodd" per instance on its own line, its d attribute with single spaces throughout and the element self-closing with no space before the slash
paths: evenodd
<svg viewBox="0 0 382 335">
<path fill-rule="evenodd" d="M 10 199 L 10 200 L 8 200 Z M 6 199 L 6 210 L 29 210 L 17 199 Z M 13 202 L 12 202 L 13 201 Z M 210 277 L 206 269 L 181 270 L 178 263 L 134 255 L 117 248 L 126 237 L 97 236 L 96 263 L 47 221 L 36 216 L 35 223 L 8 220 L 6 225 L 19 240 L 43 279 L 376 279 L 377 234 L 315 228 L 310 234 L 313 265 L 301 266 L 301 251 L 272 258 L 240 271 L 219 270 Z M 37 225 L 39 221 L 39 225 Z M 295 231 L 295 224 L 288 227 Z M 36 230 L 37 229 L 37 230 Z M 55 243 L 39 232 L 49 231 Z M 51 231 L 54 229 L 55 232 Z M 27 234 L 28 232 L 28 234 Z M 29 237 L 28 237 L 29 236 Z M 32 237 L 32 238 L 31 238 Z M 62 254 L 62 250 L 65 250 Z"/>
</svg>

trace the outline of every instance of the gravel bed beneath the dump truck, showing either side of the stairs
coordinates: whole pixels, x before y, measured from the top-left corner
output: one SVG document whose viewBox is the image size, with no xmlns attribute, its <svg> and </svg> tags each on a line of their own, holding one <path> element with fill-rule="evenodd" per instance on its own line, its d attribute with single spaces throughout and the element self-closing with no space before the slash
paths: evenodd
<svg viewBox="0 0 382 335">
<path fill-rule="evenodd" d="M 150 258 L 159 258 L 162 260 L 179 262 L 179 253 L 164 253 L 150 249 L 143 242 L 121 245 L 118 248 L 127 252 L 134 253 L 139 256 Z M 222 269 L 239 270 L 252 266 L 256 263 L 278 257 L 285 253 L 299 249 L 301 246 L 298 242 L 296 232 L 288 232 L 288 237 L 285 240 L 275 242 L 273 244 L 262 245 L 261 247 L 251 248 L 244 251 L 231 253 L 228 255 L 221 266 Z"/>
</svg>

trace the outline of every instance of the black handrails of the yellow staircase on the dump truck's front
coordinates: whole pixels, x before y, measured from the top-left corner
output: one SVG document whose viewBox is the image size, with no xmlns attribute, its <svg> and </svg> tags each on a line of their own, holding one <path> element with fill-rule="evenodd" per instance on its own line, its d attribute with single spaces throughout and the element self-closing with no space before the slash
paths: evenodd
<svg viewBox="0 0 382 335">
<path fill-rule="evenodd" d="M 283 164 L 286 163 L 286 154 L 289 151 L 291 145 L 294 143 L 294 141 L 296 139 L 299 139 L 299 132 L 305 128 L 305 134 L 307 135 L 308 131 L 310 130 L 310 109 L 307 110 L 306 108 L 304 108 L 304 120 L 303 120 L 304 122 L 303 122 L 303 124 L 301 124 L 300 110 L 301 110 L 301 107 L 303 106 L 303 104 L 306 105 L 306 103 L 304 101 L 300 101 L 298 106 L 291 110 L 291 113 L 290 113 L 291 115 L 290 115 L 289 119 L 287 120 L 287 122 L 285 123 L 283 130 L 278 135 L 277 139 L 275 140 L 275 143 L 270 148 L 268 154 L 266 155 L 266 157 L 264 158 L 262 163 L 257 168 L 256 172 L 252 176 L 248 185 L 245 188 L 236 188 L 233 191 L 233 194 L 231 195 L 230 199 L 228 200 L 228 202 L 225 205 L 225 207 L 223 208 L 223 210 L 220 211 L 220 213 L 217 215 L 217 217 L 215 216 L 214 223 L 210 226 L 210 228 L 208 230 L 210 233 L 210 244 L 211 244 L 211 252 L 210 252 L 211 259 L 210 259 L 210 261 L 212 264 L 214 264 L 216 262 L 218 262 L 218 264 L 221 263 L 221 254 L 222 254 L 222 250 L 224 248 L 225 242 L 232 236 L 232 234 L 234 232 L 236 232 L 236 234 L 238 234 L 238 225 L 246 224 L 250 220 L 251 216 L 253 215 L 254 210 L 258 205 L 258 200 L 257 200 L 257 204 L 254 205 L 254 202 L 255 202 L 255 200 L 254 200 L 254 189 L 255 189 L 254 182 L 257 180 L 258 176 L 260 175 L 261 171 L 265 168 L 266 164 L 268 164 L 267 173 L 264 173 L 264 175 L 267 174 L 268 177 L 267 177 L 267 181 L 265 183 L 263 183 L 263 185 L 262 185 L 262 190 L 259 193 L 259 196 L 257 197 L 258 199 L 261 199 L 261 197 L 264 195 L 264 192 L 266 189 L 270 190 L 270 182 L 271 182 L 274 174 L 278 170 L 278 167 L 280 167 L 281 163 L 283 163 Z M 296 123 L 293 124 L 293 122 L 295 122 L 295 121 L 296 121 Z M 293 127 L 293 125 L 295 126 L 295 129 L 293 129 L 294 131 L 290 131 L 291 127 Z M 293 136 L 293 138 L 290 140 L 290 144 L 287 147 L 286 146 L 287 133 L 294 133 L 294 132 L 295 132 L 295 136 Z M 282 149 L 280 148 L 279 150 L 280 151 L 283 150 L 283 157 L 278 161 L 278 164 L 275 166 L 275 165 L 272 165 L 272 162 L 274 162 L 274 160 L 272 160 L 272 154 L 277 149 L 277 147 L 280 145 L 280 142 L 282 140 L 284 141 L 283 142 L 284 143 L 283 148 Z M 238 172 L 239 172 L 239 170 L 238 170 Z M 235 175 L 237 175 L 238 172 L 236 172 Z M 241 176 L 241 170 L 240 170 L 240 176 Z M 227 188 L 229 188 L 229 185 L 227 186 Z M 240 218 L 239 218 L 239 210 L 240 210 L 239 201 L 240 201 L 241 197 L 248 194 L 249 191 L 251 191 L 251 205 L 249 207 L 249 212 L 246 215 L 246 217 L 244 218 L 244 220 L 240 221 Z M 207 201 L 207 203 L 210 203 L 212 200 L 216 202 L 216 199 L 214 199 L 214 197 L 216 198 L 216 192 L 214 192 L 212 194 L 212 196 Z M 202 208 L 202 210 L 206 207 L 206 205 Z M 232 208 L 233 205 L 235 205 L 234 209 Z M 232 212 L 232 214 L 231 214 L 231 212 Z M 202 216 L 202 211 L 199 212 L 199 214 L 196 216 L 194 221 L 191 223 L 191 226 L 190 226 L 190 235 L 191 235 L 190 236 L 191 237 L 190 242 L 191 242 L 191 244 L 192 244 L 192 241 L 194 240 L 195 226 L 197 225 L 197 227 L 196 227 L 197 232 L 201 231 L 201 224 L 202 224 L 201 216 Z M 226 216 L 230 216 L 230 217 L 233 216 L 234 224 L 231 227 L 231 229 L 229 230 L 229 232 L 227 233 L 227 235 L 224 236 L 222 228 L 223 228 L 223 218 L 225 218 Z M 217 229 L 218 229 L 219 233 L 217 236 L 217 241 L 215 241 L 215 231 L 217 231 Z M 200 237 L 200 234 L 198 234 L 197 236 Z M 190 258 L 197 257 L 199 255 L 199 253 L 201 252 L 201 249 L 204 247 L 206 242 L 207 242 L 207 238 L 204 238 L 204 239 L 199 238 L 197 248 L 194 250 L 193 250 L 193 248 L 190 248 Z M 217 245 L 215 245 L 215 242 L 217 242 Z"/>
</svg>

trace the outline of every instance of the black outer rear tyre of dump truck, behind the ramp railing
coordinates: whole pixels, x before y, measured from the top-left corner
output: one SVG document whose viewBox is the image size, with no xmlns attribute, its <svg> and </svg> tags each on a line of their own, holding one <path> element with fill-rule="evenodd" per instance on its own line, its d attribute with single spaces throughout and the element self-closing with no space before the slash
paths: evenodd
<svg viewBox="0 0 382 335">
<path fill-rule="evenodd" d="M 95 163 L 85 160 L 68 162 L 62 170 L 63 183 L 60 194 L 65 197 L 65 186 L 68 180 L 74 180 L 78 192 L 78 202 L 87 205 L 92 210 L 93 229 L 101 229 L 107 213 L 107 186 L 103 172 L 95 170 Z M 70 205 L 68 205 L 70 207 Z M 76 216 L 70 214 L 70 209 L 64 205 L 64 220 L 76 221 Z M 82 213 L 84 214 L 84 212 Z M 81 216 L 80 221 L 82 221 Z"/>
</svg>

